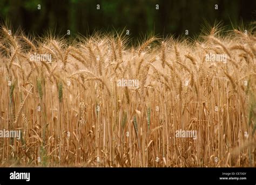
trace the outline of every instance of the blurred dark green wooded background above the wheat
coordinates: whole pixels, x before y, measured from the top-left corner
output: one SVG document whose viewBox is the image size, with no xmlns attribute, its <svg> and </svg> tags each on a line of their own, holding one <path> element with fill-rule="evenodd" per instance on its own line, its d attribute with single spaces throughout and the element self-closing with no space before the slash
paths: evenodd
<svg viewBox="0 0 256 185">
<path fill-rule="evenodd" d="M 41 10 L 37 5 L 41 5 Z M 100 5 L 100 10 L 96 5 Z M 156 10 L 156 4 L 159 10 Z M 218 10 L 214 5 L 218 4 Z M 71 36 L 93 31 L 130 30 L 133 38 L 158 35 L 197 35 L 206 22 L 222 22 L 227 29 L 255 21 L 256 0 L 0 0 L 0 21 L 17 30 L 42 35 L 53 30 Z"/>
</svg>

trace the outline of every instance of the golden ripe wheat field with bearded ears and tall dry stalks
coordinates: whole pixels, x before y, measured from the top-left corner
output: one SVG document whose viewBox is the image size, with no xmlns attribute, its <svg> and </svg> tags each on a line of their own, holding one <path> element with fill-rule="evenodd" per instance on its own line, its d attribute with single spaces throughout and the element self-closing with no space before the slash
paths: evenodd
<svg viewBox="0 0 256 185">
<path fill-rule="evenodd" d="M 256 166 L 256 37 L 0 32 L 1 166 Z M 31 61 L 49 54 L 51 62 Z M 227 62 L 205 56 L 226 54 Z M 138 88 L 118 87 L 139 80 Z M 197 138 L 177 138 L 177 130 Z"/>
</svg>

